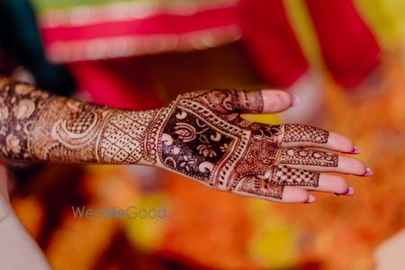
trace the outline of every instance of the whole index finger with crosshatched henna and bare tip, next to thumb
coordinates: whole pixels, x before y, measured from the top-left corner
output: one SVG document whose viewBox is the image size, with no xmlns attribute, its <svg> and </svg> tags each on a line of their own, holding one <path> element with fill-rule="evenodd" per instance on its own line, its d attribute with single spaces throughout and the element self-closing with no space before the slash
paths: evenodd
<svg viewBox="0 0 405 270">
<path fill-rule="evenodd" d="M 355 144 L 335 132 L 302 124 L 284 124 L 280 126 L 279 144 L 284 147 L 306 146 L 328 148 L 340 152 L 355 153 Z"/>
</svg>

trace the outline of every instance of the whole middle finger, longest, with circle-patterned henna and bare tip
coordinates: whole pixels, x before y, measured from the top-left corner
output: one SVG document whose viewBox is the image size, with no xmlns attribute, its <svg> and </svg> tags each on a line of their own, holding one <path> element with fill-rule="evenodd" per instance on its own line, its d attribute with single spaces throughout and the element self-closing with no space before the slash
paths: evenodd
<svg viewBox="0 0 405 270">
<path fill-rule="evenodd" d="M 304 170 L 365 176 L 372 174 L 359 159 L 311 148 L 279 148 L 275 158 L 278 164 Z"/>
</svg>

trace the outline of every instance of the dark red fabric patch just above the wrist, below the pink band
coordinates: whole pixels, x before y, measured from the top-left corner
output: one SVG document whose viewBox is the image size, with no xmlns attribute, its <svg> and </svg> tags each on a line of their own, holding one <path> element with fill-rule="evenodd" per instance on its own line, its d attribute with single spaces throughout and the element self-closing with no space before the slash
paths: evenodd
<svg viewBox="0 0 405 270">
<path fill-rule="evenodd" d="M 163 105 L 142 58 L 121 58 L 68 64 L 79 91 L 94 103 L 116 108 L 147 110 Z"/>
</svg>

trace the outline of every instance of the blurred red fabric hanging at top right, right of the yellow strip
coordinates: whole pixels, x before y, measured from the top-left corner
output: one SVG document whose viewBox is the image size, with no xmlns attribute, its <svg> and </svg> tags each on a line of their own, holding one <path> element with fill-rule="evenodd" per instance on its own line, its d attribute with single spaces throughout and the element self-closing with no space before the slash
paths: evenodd
<svg viewBox="0 0 405 270">
<path fill-rule="evenodd" d="M 331 75 L 358 85 L 380 62 L 381 49 L 352 0 L 306 0 Z"/>
</svg>

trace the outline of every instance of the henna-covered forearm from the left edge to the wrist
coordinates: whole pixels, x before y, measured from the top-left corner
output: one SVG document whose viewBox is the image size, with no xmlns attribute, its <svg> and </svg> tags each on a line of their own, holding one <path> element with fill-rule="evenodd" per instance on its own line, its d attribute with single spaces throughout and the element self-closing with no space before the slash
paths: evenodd
<svg viewBox="0 0 405 270">
<path fill-rule="evenodd" d="M 0 79 L 0 148 L 8 159 L 151 164 L 146 133 L 157 111 L 131 112 Z"/>
</svg>

